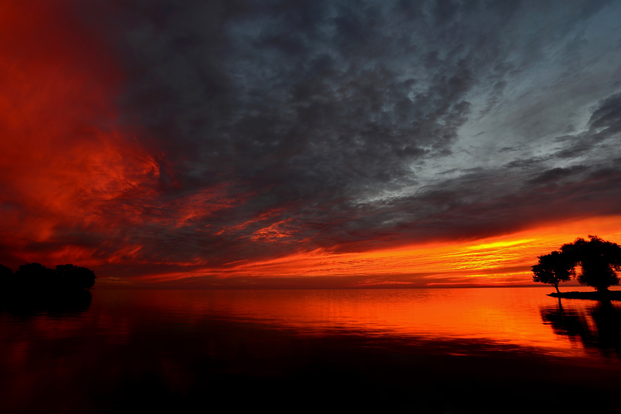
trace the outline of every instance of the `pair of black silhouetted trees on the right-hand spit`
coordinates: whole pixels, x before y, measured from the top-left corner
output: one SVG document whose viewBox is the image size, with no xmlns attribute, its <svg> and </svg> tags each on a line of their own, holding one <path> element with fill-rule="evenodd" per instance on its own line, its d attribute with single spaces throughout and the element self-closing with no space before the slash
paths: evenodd
<svg viewBox="0 0 621 414">
<path fill-rule="evenodd" d="M 533 281 L 551 284 L 558 290 L 560 282 L 571 278 L 598 292 L 605 292 L 609 286 L 618 285 L 617 271 L 621 271 L 621 247 L 617 243 L 589 235 L 589 240 L 577 238 L 573 243 L 561 246 L 560 250 L 539 256 L 533 266 Z M 576 268 L 581 272 L 576 272 Z"/>
</svg>

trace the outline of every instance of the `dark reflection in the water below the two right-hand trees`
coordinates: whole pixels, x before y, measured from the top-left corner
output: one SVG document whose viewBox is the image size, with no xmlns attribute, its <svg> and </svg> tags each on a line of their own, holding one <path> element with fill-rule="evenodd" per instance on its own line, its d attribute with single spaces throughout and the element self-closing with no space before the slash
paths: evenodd
<svg viewBox="0 0 621 414">
<path fill-rule="evenodd" d="M 604 354 L 616 353 L 621 356 L 619 308 L 610 300 L 600 300 L 597 305 L 587 308 L 572 308 L 565 303 L 566 306 L 563 307 L 559 298 L 556 307 L 541 308 L 543 323 L 550 324 L 556 335 L 580 340 L 586 348 L 596 348 Z"/>
</svg>

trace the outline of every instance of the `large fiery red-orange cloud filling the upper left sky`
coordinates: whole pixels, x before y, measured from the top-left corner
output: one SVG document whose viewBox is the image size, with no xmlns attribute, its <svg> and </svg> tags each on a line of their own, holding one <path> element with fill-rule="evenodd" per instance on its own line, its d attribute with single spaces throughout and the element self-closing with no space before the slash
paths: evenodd
<svg viewBox="0 0 621 414">
<path fill-rule="evenodd" d="M 102 212 L 112 200 L 153 191 L 158 162 L 116 126 L 122 79 L 68 4 L 2 2 L 0 235 L 6 245 L 53 241 L 62 227 L 109 231 Z M 79 259 L 86 251 L 63 246 L 51 256 Z"/>
</svg>

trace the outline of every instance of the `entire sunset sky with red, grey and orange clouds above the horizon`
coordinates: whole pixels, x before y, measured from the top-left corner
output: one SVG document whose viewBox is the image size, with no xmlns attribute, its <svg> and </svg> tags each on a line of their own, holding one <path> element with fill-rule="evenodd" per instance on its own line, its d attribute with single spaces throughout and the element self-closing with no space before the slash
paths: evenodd
<svg viewBox="0 0 621 414">
<path fill-rule="evenodd" d="M 621 243 L 621 1 L 0 1 L 0 263 L 532 283 Z"/>
</svg>

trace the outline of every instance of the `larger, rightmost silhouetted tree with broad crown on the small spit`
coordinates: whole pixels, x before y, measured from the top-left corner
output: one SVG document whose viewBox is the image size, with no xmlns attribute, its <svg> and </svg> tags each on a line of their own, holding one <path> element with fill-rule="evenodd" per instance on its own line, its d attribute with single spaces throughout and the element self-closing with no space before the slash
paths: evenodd
<svg viewBox="0 0 621 414">
<path fill-rule="evenodd" d="M 575 266 L 582 268 L 578 276 L 580 284 L 605 292 L 609 286 L 618 285 L 617 271 L 621 271 L 621 247 L 589 235 L 589 240 L 577 238 L 573 243 L 561 246 L 561 252 Z"/>
</svg>

